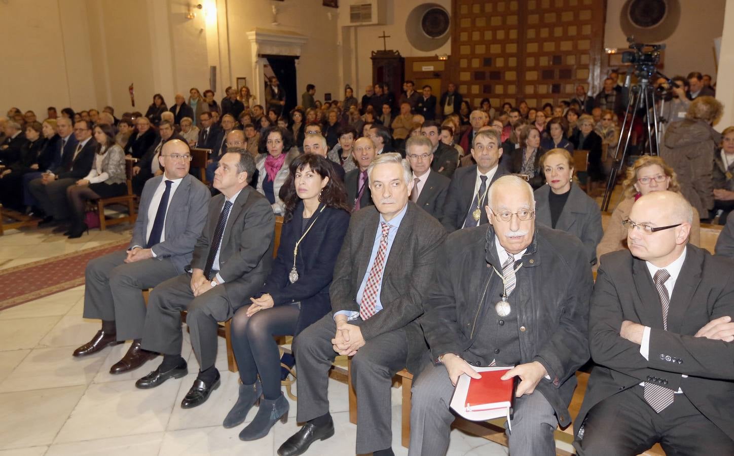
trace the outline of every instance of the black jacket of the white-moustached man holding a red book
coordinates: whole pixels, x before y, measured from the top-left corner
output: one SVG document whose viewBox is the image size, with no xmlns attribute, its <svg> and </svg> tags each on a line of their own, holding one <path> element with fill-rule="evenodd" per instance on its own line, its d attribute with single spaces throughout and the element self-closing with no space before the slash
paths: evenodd
<svg viewBox="0 0 734 456">
<path fill-rule="evenodd" d="M 438 258 L 443 264 L 436 268 L 421 317 L 435 362 L 444 353 L 461 356 L 479 331 L 491 330 L 482 326 L 483 316 L 495 310 L 484 304 L 492 300 L 485 301 L 482 295 L 485 290 L 499 292 L 502 285 L 492 268 L 502 270 L 491 225 L 451 233 L 442 250 Z M 581 241 L 542 225 L 536 225 L 522 262 L 517 287 L 523 287 L 528 299 L 520 301 L 516 313 L 521 362 L 539 361 L 548 371 L 551 380 L 540 380 L 537 390 L 553 405 L 559 424 L 566 426 L 576 369 L 589 360 L 592 271 Z"/>
</svg>

